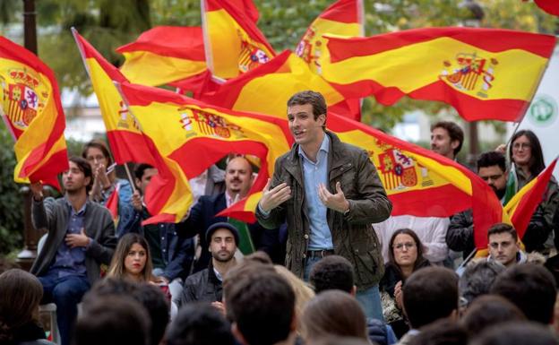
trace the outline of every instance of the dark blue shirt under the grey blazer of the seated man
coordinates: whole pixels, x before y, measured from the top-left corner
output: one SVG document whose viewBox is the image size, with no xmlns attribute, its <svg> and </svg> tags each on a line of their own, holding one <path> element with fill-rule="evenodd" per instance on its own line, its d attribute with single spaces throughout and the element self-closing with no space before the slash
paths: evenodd
<svg viewBox="0 0 559 345">
<path fill-rule="evenodd" d="M 76 212 L 73 210 L 72 205 L 66 200 L 66 206 L 70 214 L 66 235 L 79 234 L 82 231 L 86 204 L 87 203 L 84 203 L 82 209 Z M 85 249 L 84 246 L 70 248 L 66 246 L 66 241 L 63 239 L 56 251 L 55 263 L 50 267 L 48 274 L 54 274 L 59 278 L 68 275 L 81 275 L 85 277 Z"/>
</svg>

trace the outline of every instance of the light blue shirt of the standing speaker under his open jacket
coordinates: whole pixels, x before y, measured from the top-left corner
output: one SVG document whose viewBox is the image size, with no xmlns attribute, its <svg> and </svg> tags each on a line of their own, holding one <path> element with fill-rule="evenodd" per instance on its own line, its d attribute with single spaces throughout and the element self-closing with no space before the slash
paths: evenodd
<svg viewBox="0 0 559 345">
<path fill-rule="evenodd" d="M 310 220 L 311 238 L 309 250 L 333 249 L 331 231 L 326 218 L 326 206 L 318 198 L 318 185 L 328 186 L 328 151 L 330 138 L 324 135 L 316 162 L 309 160 L 305 151 L 299 146 L 299 154 L 303 157 L 303 179 L 305 183 L 306 211 Z"/>
</svg>

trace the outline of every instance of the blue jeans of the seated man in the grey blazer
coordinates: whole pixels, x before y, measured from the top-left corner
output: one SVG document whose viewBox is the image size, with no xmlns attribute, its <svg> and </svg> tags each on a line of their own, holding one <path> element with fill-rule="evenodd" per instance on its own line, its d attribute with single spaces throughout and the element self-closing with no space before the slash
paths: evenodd
<svg viewBox="0 0 559 345">
<path fill-rule="evenodd" d="M 69 345 L 70 334 L 78 315 L 78 303 L 90 289 L 90 282 L 87 277 L 74 275 L 58 278 L 55 274 L 48 274 L 38 278 L 43 285 L 42 303 L 56 304 L 56 322 L 60 339 L 62 345 Z"/>
</svg>

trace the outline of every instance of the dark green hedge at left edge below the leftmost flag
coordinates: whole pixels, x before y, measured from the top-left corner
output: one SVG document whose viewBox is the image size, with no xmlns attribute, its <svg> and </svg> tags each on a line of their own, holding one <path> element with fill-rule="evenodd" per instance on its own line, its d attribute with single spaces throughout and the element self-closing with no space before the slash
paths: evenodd
<svg viewBox="0 0 559 345">
<path fill-rule="evenodd" d="M 21 185 L 13 182 L 13 139 L 5 125 L 0 125 L 0 165 L 0 255 L 4 255 L 22 247 L 23 233 Z"/>
</svg>

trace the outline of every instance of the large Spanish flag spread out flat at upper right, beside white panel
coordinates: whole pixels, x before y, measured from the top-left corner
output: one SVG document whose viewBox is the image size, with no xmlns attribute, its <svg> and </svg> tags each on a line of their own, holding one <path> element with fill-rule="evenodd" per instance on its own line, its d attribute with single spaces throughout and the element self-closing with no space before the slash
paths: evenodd
<svg viewBox="0 0 559 345">
<path fill-rule="evenodd" d="M 346 97 L 437 100 L 468 121 L 520 121 L 555 47 L 550 35 L 472 28 L 325 39 L 323 77 Z"/>
</svg>

